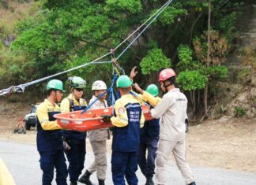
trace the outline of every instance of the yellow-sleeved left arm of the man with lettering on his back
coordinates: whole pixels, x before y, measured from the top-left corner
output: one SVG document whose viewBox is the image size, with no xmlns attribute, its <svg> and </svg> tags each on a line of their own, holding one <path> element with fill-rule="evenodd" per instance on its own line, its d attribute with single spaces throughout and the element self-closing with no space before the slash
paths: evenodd
<svg viewBox="0 0 256 185">
<path fill-rule="evenodd" d="M 111 117 L 111 122 L 115 127 L 126 127 L 128 124 L 128 115 L 126 108 L 122 105 L 120 101 L 115 102 L 115 115 Z"/>
</svg>

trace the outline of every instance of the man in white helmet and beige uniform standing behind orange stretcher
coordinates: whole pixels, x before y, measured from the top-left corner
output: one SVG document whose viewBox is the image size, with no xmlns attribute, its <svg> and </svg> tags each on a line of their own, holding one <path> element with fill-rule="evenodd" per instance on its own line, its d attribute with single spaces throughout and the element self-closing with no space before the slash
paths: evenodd
<svg viewBox="0 0 256 185">
<path fill-rule="evenodd" d="M 100 94 L 103 94 L 107 91 L 107 85 L 104 81 L 97 80 L 92 83 L 93 96 L 89 102 L 89 105 L 96 100 Z M 98 101 L 92 104 L 90 109 L 104 109 L 107 107 L 106 101 L 107 94 L 104 94 Z M 90 140 L 94 161 L 92 165 L 86 170 L 85 174 L 81 176 L 78 180 L 80 183 L 85 183 L 86 185 L 92 185 L 91 180 L 89 179 L 93 172 L 96 172 L 99 185 L 104 185 L 106 179 L 106 170 L 107 170 L 107 139 L 109 138 L 108 128 L 101 128 L 94 131 L 88 131 L 88 138 Z"/>
</svg>

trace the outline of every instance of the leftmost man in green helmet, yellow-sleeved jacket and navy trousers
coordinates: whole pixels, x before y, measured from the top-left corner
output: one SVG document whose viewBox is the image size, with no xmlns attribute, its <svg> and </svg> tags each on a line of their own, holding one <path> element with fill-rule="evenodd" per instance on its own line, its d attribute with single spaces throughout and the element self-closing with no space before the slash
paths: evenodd
<svg viewBox="0 0 256 185">
<path fill-rule="evenodd" d="M 63 97 L 63 83 L 60 80 L 50 80 L 47 83 L 47 99 L 36 109 L 38 122 L 36 145 L 40 153 L 40 168 L 43 170 L 42 184 L 51 184 L 56 168 L 56 183 L 66 184 L 67 169 L 63 152 L 61 127 L 53 117 L 60 113 L 57 105 Z"/>
</svg>

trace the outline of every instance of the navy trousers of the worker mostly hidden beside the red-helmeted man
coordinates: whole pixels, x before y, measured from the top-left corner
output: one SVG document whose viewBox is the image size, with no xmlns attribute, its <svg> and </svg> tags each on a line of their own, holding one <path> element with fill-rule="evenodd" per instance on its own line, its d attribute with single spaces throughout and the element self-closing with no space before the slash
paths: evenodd
<svg viewBox="0 0 256 185">
<path fill-rule="evenodd" d="M 145 177 L 152 177 L 155 174 L 155 159 L 158 139 L 141 139 L 138 164 Z M 148 156 L 146 157 L 146 150 Z"/>
</svg>

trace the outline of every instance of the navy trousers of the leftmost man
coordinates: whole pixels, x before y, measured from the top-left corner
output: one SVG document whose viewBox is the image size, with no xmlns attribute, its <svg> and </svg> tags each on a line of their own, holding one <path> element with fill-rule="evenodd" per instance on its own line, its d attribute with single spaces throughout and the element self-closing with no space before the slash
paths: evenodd
<svg viewBox="0 0 256 185">
<path fill-rule="evenodd" d="M 43 170 L 43 185 L 51 185 L 56 168 L 56 183 L 66 185 L 67 169 L 63 150 L 40 151 L 40 168 Z"/>
</svg>

